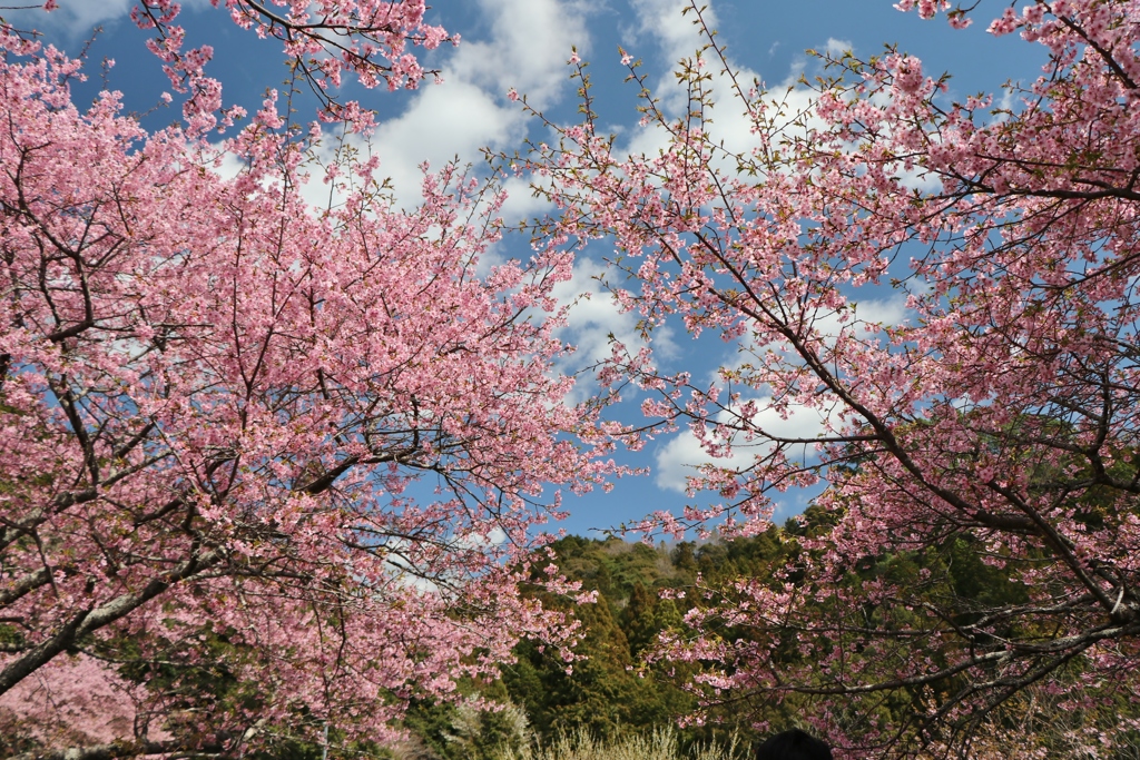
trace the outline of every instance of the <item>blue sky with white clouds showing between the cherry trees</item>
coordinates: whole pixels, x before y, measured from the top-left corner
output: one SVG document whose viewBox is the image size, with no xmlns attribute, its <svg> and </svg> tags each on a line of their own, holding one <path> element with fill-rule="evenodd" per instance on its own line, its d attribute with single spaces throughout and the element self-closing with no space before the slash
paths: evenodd
<svg viewBox="0 0 1140 760">
<path fill-rule="evenodd" d="M 92 27 L 101 25 L 104 31 L 89 51 L 91 82 L 76 90 L 76 101 L 82 104 L 103 87 L 98 62 L 114 58 L 107 81 L 125 93 L 129 111 L 150 112 L 144 121 L 150 128 L 178 117 L 177 100 L 174 107 L 160 106 L 170 85 L 144 48 L 145 33 L 127 16 L 131 0 L 60 0 L 59 5 L 60 10 L 50 16 L 0 13 L 19 26 L 39 28 L 47 41 L 73 54 L 90 38 Z M 187 44 L 214 47 L 207 72 L 222 80 L 223 100 L 252 113 L 266 88 L 279 85 L 285 76 L 277 44 L 241 31 L 205 0 L 184 0 L 182 5 L 179 21 L 187 27 Z M 637 128 L 636 90 L 622 83 L 626 71 L 617 48 L 642 58 L 649 81 L 667 96 L 673 66 L 701 44 L 691 17 L 681 15 L 683 5 L 682 0 L 437 0 L 429 17 L 463 38 L 457 48 L 445 46 L 422 58 L 442 71 L 445 83 L 397 93 L 350 88 L 349 95 L 378 111 L 373 149 L 401 199 L 414 198 L 417 166 L 425 160 L 437 166 L 454 156 L 479 162 L 482 147 L 510 152 L 527 137 L 542 139 L 540 125 L 506 98 L 510 88 L 527 93 L 532 105 L 555 121 L 573 120 L 575 83 L 565 66 L 571 46 L 592 62 L 602 123 L 620 136 L 620 144 L 651 150 L 656 138 Z M 881 51 L 883 43 L 895 42 L 922 58 L 928 74 L 951 72 L 954 98 L 996 91 L 1007 80 L 1029 81 L 1043 62 L 1039 50 L 1016 36 L 994 39 L 985 32 L 985 23 L 1000 14 L 1001 2 L 982 0 L 975 25 L 964 31 L 950 28 L 944 18 L 923 22 L 917 14 L 899 13 L 890 0 L 708 0 L 708 6 L 707 18 L 718 28 L 718 41 L 727 47 L 733 65 L 746 77 L 758 76 L 773 89 L 815 71 L 815 63 L 804 55 L 806 48 L 853 49 L 866 57 Z M 308 121 L 307 114 L 301 115 Z M 730 141 L 747 139 L 743 122 L 733 121 L 731 108 L 718 114 L 718 121 L 722 136 Z M 523 185 L 508 189 L 514 191 L 511 214 L 522 218 L 543 211 Z M 523 243 L 508 240 L 500 254 L 526 255 Z M 565 335 L 579 346 L 581 361 L 608 353 L 609 333 L 619 337 L 634 333 L 635 319 L 620 314 L 592 279 L 604 271 L 604 253 L 593 246 L 576 268 L 573 281 L 561 291 L 567 299 L 581 292 L 594 294 L 576 309 Z M 897 303 L 883 294 L 866 308 L 881 319 L 898 320 L 905 314 Z M 679 330 L 673 330 L 670 349 L 661 362 L 665 368 L 687 369 L 698 377 L 711 374 L 731 353 L 715 336 L 694 344 Z M 798 424 L 809 428 L 812 423 L 801 419 Z M 699 458 L 698 447 L 684 432 L 654 441 L 637 456 L 625 457 L 629 464 L 651 467 L 651 475 L 620 481 L 609 495 L 569 497 L 565 506 L 571 517 L 559 526 L 584 533 L 653 509 L 679 510 L 686 501 L 701 506 L 700 495 L 686 499 L 683 492 L 686 465 Z M 776 516 L 801 510 L 806 499 L 803 493 L 784 495 Z"/>
</svg>

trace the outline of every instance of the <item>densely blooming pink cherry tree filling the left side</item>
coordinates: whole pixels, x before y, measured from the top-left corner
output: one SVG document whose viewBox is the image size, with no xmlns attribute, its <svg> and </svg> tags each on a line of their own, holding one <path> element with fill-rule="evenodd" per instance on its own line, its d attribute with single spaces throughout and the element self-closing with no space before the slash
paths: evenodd
<svg viewBox="0 0 1140 760">
<path fill-rule="evenodd" d="M 227 5 L 308 55 L 310 3 L 284 25 Z M 353 66 L 368 34 L 423 31 L 414 2 L 318 5 L 366 27 Z M 316 163 L 272 97 L 210 144 L 193 117 L 148 133 L 115 92 L 81 112 L 80 70 L 0 30 L 0 714 L 72 704 L 90 725 L 52 736 L 99 744 L 48 749 L 75 758 L 382 741 L 520 638 L 571 644 L 520 593 L 573 591 L 531 566 L 536 525 L 617 472 L 552 366 L 571 259 L 489 262 L 503 195 L 455 166 L 399 211 L 374 161 Z M 321 179 L 326 209 L 302 195 Z M 76 702 L 95 676 L 132 716 Z"/>
</svg>

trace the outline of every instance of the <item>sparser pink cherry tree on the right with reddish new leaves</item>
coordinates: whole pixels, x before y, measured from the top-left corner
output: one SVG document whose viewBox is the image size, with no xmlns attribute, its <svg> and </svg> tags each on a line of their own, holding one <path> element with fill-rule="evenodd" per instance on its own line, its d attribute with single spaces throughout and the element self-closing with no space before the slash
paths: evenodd
<svg viewBox="0 0 1140 760">
<path fill-rule="evenodd" d="M 781 96 L 705 31 L 679 119 L 643 89 L 658 155 L 621 155 L 587 97 L 515 164 L 548 177 L 546 234 L 612 244 L 648 338 L 683 320 L 734 348 L 711 381 L 620 344 L 601 367 L 712 461 L 690 492 L 719 504 L 642 528 L 752 534 L 781 492 L 823 485 L 806 534 L 783 533 L 798 558 L 698 588 L 659 656 L 701 664 L 707 704 L 793 704 L 849 757 L 980 752 L 1048 710 L 1117 705 L 1069 732 L 1102 751 L 1140 698 L 1140 3 L 1007 9 L 990 31 L 1045 59 L 1008 100 L 952 101 L 895 49 L 825 56 L 829 76 Z M 754 142 L 722 141 L 714 106 Z M 901 320 L 870 318 L 891 300 Z"/>
</svg>

